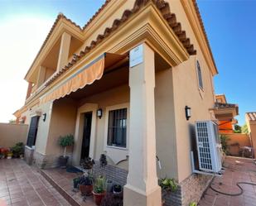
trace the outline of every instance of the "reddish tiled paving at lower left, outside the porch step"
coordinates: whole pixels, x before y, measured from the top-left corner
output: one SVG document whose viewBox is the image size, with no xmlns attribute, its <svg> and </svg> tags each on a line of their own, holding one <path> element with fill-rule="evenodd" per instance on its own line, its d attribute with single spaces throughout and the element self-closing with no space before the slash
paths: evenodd
<svg viewBox="0 0 256 206">
<path fill-rule="evenodd" d="M 0 160 L 0 202 L 12 206 L 70 205 L 38 171 L 19 159 Z"/>
</svg>

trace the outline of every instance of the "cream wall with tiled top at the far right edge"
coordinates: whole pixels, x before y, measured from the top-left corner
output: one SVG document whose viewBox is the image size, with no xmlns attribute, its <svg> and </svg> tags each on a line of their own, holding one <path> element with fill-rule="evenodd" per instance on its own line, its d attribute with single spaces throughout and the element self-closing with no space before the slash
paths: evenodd
<svg viewBox="0 0 256 206">
<path fill-rule="evenodd" d="M 256 112 L 245 113 L 245 122 L 248 127 L 249 137 L 254 147 L 254 156 L 256 151 Z"/>
</svg>

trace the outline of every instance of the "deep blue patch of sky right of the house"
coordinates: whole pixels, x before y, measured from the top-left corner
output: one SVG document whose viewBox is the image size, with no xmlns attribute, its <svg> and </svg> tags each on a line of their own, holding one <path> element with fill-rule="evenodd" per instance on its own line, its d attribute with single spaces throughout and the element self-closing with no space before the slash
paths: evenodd
<svg viewBox="0 0 256 206">
<path fill-rule="evenodd" d="M 215 63 L 215 93 L 239 104 L 239 124 L 256 111 L 256 1 L 198 1 Z"/>
</svg>

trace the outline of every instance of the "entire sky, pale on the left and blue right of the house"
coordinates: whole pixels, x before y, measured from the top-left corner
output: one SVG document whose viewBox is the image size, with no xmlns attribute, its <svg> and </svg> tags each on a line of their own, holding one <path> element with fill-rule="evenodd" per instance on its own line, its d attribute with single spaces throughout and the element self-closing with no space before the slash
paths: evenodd
<svg viewBox="0 0 256 206">
<path fill-rule="evenodd" d="M 0 60 L 12 62 L 12 59 L 7 61 L 10 58 L 8 54 L 12 50 L 21 51 L 20 60 L 12 62 L 12 66 L 9 63 L 0 68 L 0 92 L 7 90 L 2 86 L 7 81 L 11 84 L 8 93 L 15 94 L 12 95 L 12 103 L 0 101 L 0 122 L 13 118 L 10 114 L 24 103 L 27 84 L 23 77 L 57 14 L 63 12 L 66 17 L 84 26 L 103 3 L 104 0 L 0 0 L 0 31 L 7 32 L 5 36 L 1 36 L 0 32 L 0 46 L 3 47 L 0 50 L 4 50 L 0 53 Z M 242 125 L 244 113 L 256 111 L 256 71 L 253 62 L 256 60 L 256 1 L 199 0 L 198 5 L 220 72 L 215 76 L 215 93 L 225 93 L 229 103 L 239 104 L 238 119 Z M 24 42 L 20 41 L 21 36 L 13 36 L 12 50 L 7 51 L 10 48 L 5 49 L 2 45 L 10 38 L 11 31 L 23 36 Z M 29 43 L 26 43 L 26 38 Z"/>
</svg>

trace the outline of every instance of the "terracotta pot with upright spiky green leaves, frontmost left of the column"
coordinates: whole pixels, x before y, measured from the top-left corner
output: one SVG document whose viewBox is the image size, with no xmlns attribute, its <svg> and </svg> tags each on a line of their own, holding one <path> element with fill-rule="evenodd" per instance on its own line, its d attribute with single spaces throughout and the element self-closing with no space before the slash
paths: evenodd
<svg viewBox="0 0 256 206">
<path fill-rule="evenodd" d="M 99 176 L 94 180 L 94 203 L 100 205 L 106 194 L 106 179 L 103 176 Z"/>
</svg>

